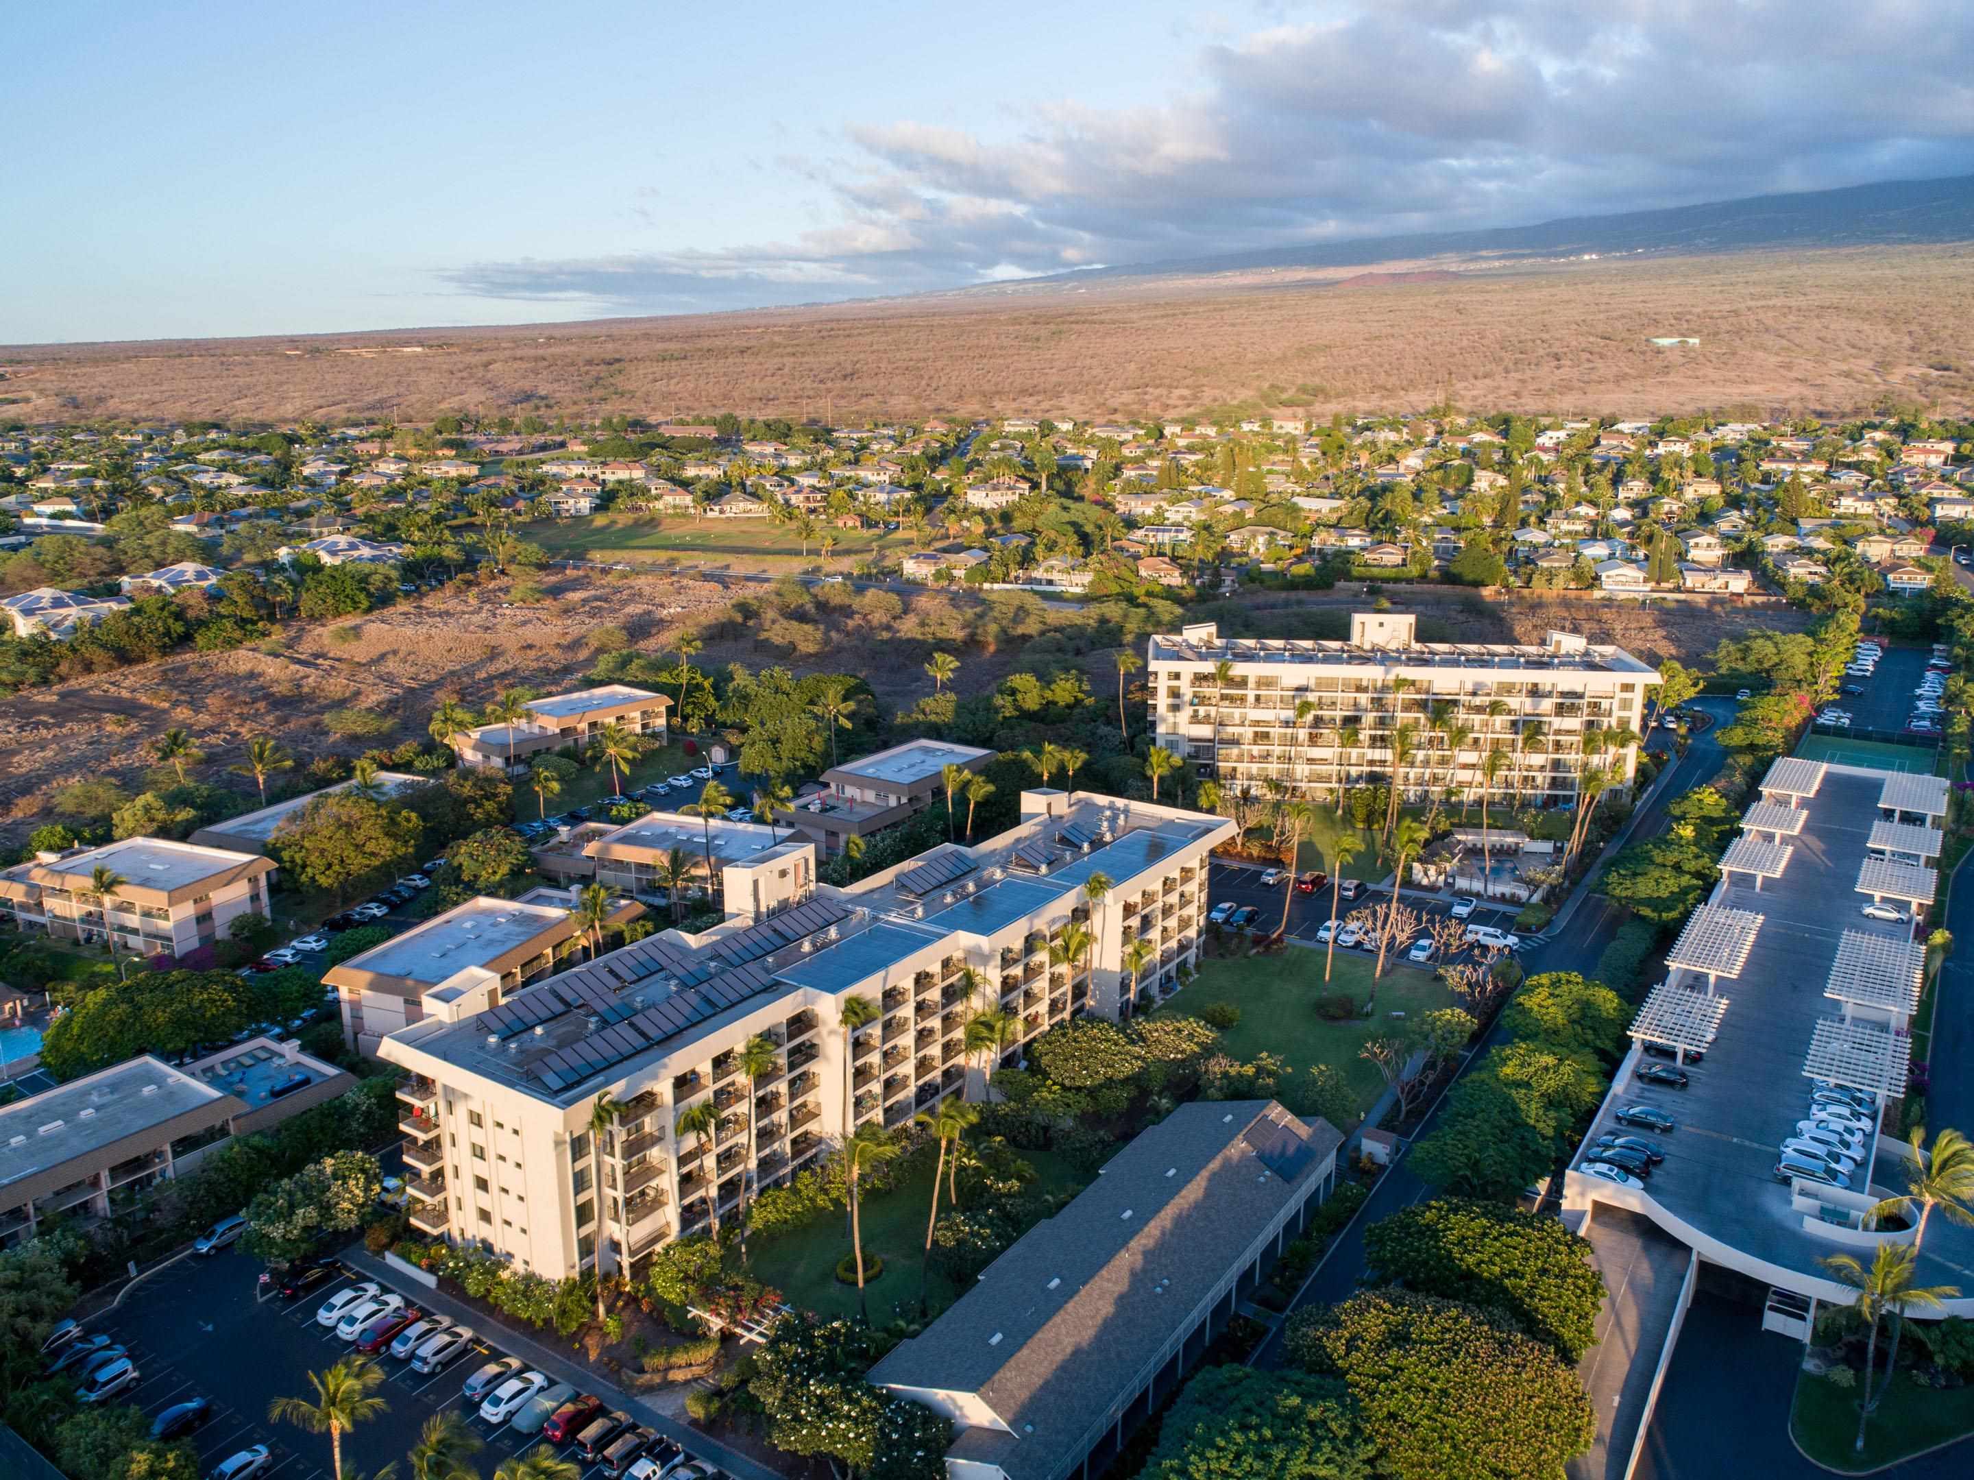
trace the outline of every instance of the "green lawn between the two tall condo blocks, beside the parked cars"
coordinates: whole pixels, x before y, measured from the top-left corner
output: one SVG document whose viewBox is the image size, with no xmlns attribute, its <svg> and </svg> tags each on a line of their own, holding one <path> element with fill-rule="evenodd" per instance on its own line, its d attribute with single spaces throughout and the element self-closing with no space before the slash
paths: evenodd
<svg viewBox="0 0 1974 1480">
<path fill-rule="evenodd" d="M 1374 957 L 1362 951 L 1336 951 L 1330 985 L 1323 985 L 1323 951 L 1291 945 L 1281 955 L 1250 955 L 1240 961 L 1218 959 L 1200 967 L 1178 1000 L 1167 1008 L 1196 1014 L 1208 1002 L 1232 1002 L 1242 1018 L 1222 1038 L 1226 1052 L 1252 1060 L 1267 1050 L 1295 1070 L 1281 1085 L 1281 1101 L 1301 1109 L 1297 1081 L 1313 1064 L 1332 1064 L 1342 1072 L 1358 1097 L 1360 1109 L 1384 1091 L 1384 1075 L 1358 1050 L 1378 1034 L 1400 1026 L 1390 1012 L 1415 1020 L 1441 1006 L 1457 1006 L 1453 993 L 1431 971 L 1407 965 L 1386 965 L 1378 983 L 1376 1016 L 1356 1022 L 1325 1022 L 1315 1000 L 1325 993 L 1350 993 L 1362 1002 L 1372 993 Z M 1346 1127 L 1342 1127 L 1346 1129 Z"/>
</svg>

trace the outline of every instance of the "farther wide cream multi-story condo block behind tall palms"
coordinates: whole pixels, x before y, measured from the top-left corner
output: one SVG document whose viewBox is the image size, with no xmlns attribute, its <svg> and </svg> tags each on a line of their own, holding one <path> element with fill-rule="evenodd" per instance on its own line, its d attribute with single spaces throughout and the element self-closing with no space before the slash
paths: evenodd
<svg viewBox="0 0 1974 1480">
<path fill-rule="evenodd" d="M 1348 641 L 1222 637 L 1214 624 L 1153 637 L 1157 742 L 1224 787 L 1334 797 L 1388 783 L 1407 799 L 1567 805 L 1587 766 L 1631 787 L 1658 671 L 1623 647 L 1552 631 L 1536 645 L 1421 643 L 1409 614 L 1350 616 Z M 1500 752 L 1498 760 L 1488 760 Z M 1492 772 L 1492 779 L 1488 774 Z"/>
</svg>

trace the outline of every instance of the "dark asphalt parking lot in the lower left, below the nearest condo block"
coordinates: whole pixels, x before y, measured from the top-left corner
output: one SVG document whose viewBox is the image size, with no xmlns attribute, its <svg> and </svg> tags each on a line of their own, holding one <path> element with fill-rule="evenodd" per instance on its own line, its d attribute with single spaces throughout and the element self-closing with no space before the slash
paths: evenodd
<svg viewBox="0 0 1974 1480">
<path fill-rule="evenodd" d="M 274 1464 L 266 1474 L 274 1480 L 332 1480 L 328 1437 L 270 1423 L 266 1411 L 276 1397 L 312 1397 L 308 1373 L 351 1356 L 353 1348 L 320 1326 L 316 1312 L 357 1277 L 345 1271 L 296 1300 L 282 1300 L 276 1295 L 259 1296 L 259 1275 L 261 1265 L 239 1251 L 182 1259 L 138 1285 L 120 1308 L 91 1320 L 89 1328 L 120 1340 L 142 1373 L 142 1383 L 116 1401 L 138 1405 L 146 1417 L 195 1395 L 215 1403 L 213 1419 L 188 1441 L 199 1454 L 199 1474 L 209 1474 L 251 1444 L 268 1444 Z M 401 1293 L 409 1304 L 428 1310 L 418 1300 L 418 1287 L 407 1285 Z M 507 1425 L 488 1425 L 478 1409 L 460 1401 L 474 1371 L 505 1356 L 499 1336 L 494 1332 L 492 1342 L 476 1340 L 470 1354 L 434 1375 L 379 1356 L 385 1381 L 377 1395 L 389 1409 L 343 1437 L 343 1472 L 371 1474 L 391 1462 L 403 1472 L 405 1454 L 418 1443 L 424 1421 L 446 1409 L 462 1413 L 486 1443 L 474 1456 L 482 1474 L 511 1454 L 533 1452 L 547 1443 L 539 1433 L 519 1435 Z M 531 1366 L 525 1364 L 523 1371 Z M 576 1462 L 582 1480 L 602 1480 L 600 1464 L 582 1464 L 574 1439 L 549 1448 Z"/>
</svg>

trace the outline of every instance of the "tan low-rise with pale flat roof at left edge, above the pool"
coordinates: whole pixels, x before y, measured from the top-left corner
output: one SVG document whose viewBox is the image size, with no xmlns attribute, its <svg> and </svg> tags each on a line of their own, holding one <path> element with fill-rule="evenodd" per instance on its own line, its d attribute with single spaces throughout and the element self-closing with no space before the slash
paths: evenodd
<svg viewBox="0 0 1974 1480">
<path fill-rule="evenodd" d="M 97 868 L 116 882 L 99 890 Z M 0 902 L 28 933 L 83 943 L 114 935 L 120 951 L 186 955 L 227 939 L 237 916 L 272 918 L 272 874 L 257 852 L 132 837 L 16 864 L 0 872 Z"/>
</svg>

